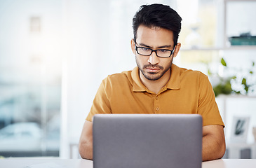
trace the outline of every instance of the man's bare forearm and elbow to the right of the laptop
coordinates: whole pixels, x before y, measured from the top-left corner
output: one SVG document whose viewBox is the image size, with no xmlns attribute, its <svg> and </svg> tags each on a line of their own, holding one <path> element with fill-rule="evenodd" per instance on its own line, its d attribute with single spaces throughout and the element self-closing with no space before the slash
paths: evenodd
<svg viewBox="0 0 256 168">
<path fill-rule="evenodd" d="M 203 126 L 203 161 L 220 159 L 225 151 L 224 127 L 222 125 Z"/>
</svg>

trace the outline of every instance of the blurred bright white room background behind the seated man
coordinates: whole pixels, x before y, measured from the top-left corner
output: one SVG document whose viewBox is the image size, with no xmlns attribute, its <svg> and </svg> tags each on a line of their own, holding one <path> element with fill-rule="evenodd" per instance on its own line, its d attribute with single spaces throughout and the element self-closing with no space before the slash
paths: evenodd
<svg viewBox="0 0 256 168">
<path fill-rule="evenodd" d="M 79 158 L 102 79 L 136 66 L 132 19 L 146 3 L 181 15 L 174 63 L 209 76 L 224 158 L 256 158 L 256 0 L 0 0 L 1 157 Z"/>
</svg>

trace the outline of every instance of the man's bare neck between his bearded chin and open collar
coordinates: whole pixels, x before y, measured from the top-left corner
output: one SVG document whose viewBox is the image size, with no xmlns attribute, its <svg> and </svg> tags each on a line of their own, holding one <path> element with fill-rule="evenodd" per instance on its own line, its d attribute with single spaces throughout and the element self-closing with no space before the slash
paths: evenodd
<svg viewBox="0 0 256 168">
<path fill-rule="evenodd" d="M 148 80 L 147 78 L 144 77 L 144 75 L 140 71 L 140 80 L 142 81 L 142 83 L 147 87 L 148 90 L 156 94 L 158 94 L 159 91 L 163 88 L 163 86 L 165 86 L 166 83 L 168 83 L 169 79 L 170 79 L 170 69 L 166 71 L 166 73 L 164 73 L 163 76 L 158 80 Z"/>
</svg>

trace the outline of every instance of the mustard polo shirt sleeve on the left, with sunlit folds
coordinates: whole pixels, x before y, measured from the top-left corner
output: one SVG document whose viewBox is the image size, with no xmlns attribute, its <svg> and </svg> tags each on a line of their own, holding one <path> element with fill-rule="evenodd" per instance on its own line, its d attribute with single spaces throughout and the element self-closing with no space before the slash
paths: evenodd
<svg viewBox="0 0 256 168">
<path fill-rule="evenodd" d="M 93 100 L 93 105 L 90 109 L 90 112 L 88 113 L 86 120 L 92 121 L 93 116 L 97 113 L 112 113 L 112 110 L 109 104 L 109 97 L 106 91 L 106 85 L 107 85 L 107 78 L 102 80 L 102 83 L 100 84 L 100 87 L 97 90 L 97 93 Z"/>
</svg>

